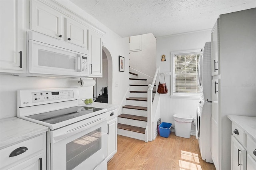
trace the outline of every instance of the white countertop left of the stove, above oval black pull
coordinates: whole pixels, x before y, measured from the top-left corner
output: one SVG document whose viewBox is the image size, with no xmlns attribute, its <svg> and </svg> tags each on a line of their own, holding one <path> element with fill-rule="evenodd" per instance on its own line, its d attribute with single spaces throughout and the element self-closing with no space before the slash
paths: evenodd
<svg viewBox="0 0 256 170">
<path fill-rule="evenodd" d="M 48 127 L 17 117 L 0 119 L 0 149 L 48 131 Z"/>
</svg>

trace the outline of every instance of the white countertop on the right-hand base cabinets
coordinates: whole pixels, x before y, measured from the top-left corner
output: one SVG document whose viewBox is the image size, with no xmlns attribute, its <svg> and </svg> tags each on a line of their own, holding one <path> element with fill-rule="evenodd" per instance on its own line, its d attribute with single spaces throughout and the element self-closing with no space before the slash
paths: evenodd
<svg viewBox="0 0 256 170">
<path fill-rule="evenodd" d="M 228 115 L 228 119 L 256 141 L 256 117 Z"/>
</svg>

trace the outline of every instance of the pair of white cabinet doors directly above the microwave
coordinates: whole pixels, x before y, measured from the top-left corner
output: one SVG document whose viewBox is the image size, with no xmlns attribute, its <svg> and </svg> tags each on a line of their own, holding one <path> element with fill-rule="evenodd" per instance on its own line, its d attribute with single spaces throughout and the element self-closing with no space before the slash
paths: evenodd
<svg viewBox="0 0 256 170">
<path fill-rule="evenodd" d="M 30 29 L 87 49 L 87 28 L 40 1 L 30 1 Z"/>
</svg>

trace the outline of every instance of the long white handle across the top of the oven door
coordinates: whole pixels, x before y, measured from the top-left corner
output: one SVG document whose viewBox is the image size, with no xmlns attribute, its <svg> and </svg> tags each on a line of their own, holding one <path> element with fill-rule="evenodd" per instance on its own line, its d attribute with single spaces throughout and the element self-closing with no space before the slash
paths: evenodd
<svg viewBox="0 0 256 170">
<path fill-rule="evenodd" d="M 89 123 L 86 123 L 86 124 L 84 124 L 84 125 L 81 125 L 81 126 L 79 126 L 79 127 L 76 127 L 76 128 L 74 128 L 74 129 L 68 130 L 68 131 L 66 131 L 66 132 L 63 133 L 63 134 L 60 134 L 60 135 L 58 135 L 58 136 L 54 136 L 53 138 L 54 138 L 54 140 L 61 140 L 61 139 L 64 139 L 64 138 L 68 138 L 68 137 L 70 137 L 70 136 L 72 136 L 72 135 L 74 135 L 74 134 L 77 134 L 77 133 L 79 133 L 79 132 L 82 132 L 82 131 L 84 131 L 84 130 L 90 128 L 90 127 L 93 127 L 93 126 L 95 126 L 95 125 L 98 125 L 99 123 L 102 123 L 102 122 L 104 122 L 104 121 L 106 121 L 106 120 L 107 120 L 106 118 L 103 118 L 103 119 L 102 119 L 102 118 L 96 119 L 96 120 L 94 120 L 94 121 L 91 121 L 91 122 L 89 122 Z"/>
</svg>

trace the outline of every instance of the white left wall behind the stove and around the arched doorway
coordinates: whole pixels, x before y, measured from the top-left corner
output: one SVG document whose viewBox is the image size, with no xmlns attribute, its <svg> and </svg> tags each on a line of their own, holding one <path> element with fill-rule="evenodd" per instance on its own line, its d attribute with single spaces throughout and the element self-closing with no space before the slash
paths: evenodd
<svg viewBox="0 0 256 170">
<path fill-rule="evenodd" d="M 118 87 L 111 89 L 112 103 L 120 104 L 126 90 L 128 89 L 129 77 L 129 38 L 121 38 L 116 33 L 109 30 L 98 20 L 75 6 L 70 1 L 58 1 L 62 6 L 76 12 L 85 18 L 89 23 L 104 30 L 106 34 L 102 37 L 106 48 L 110 51 L 113 64 L 113 82 L 118 83 Z M 27 3 L 26 3 L 27 4 Z M 26 23 L 26 25 L 29 25 Z M 26 31 L 26 30 L 24 30 Z M 118 72 L 118 55 L 125 57 L 125 72 Z M 78 80 L 78 79 L 77 79 Z M 75 83 L 75 84 L 74 84 Z M 0 75 L 0 119 L 17 116 L 17 90 L 37 89 L 37 88 L 58 88 L 58 87 L 79 87 L 75 79 L 66 78 L 40 78 L 40 77 L 16 77 L 12 75 Z M 111 87 L 112 88 L 112 87 Z M 80 97 L 92 97 L 92 87 L 80 88 Z"/>
</svg>

